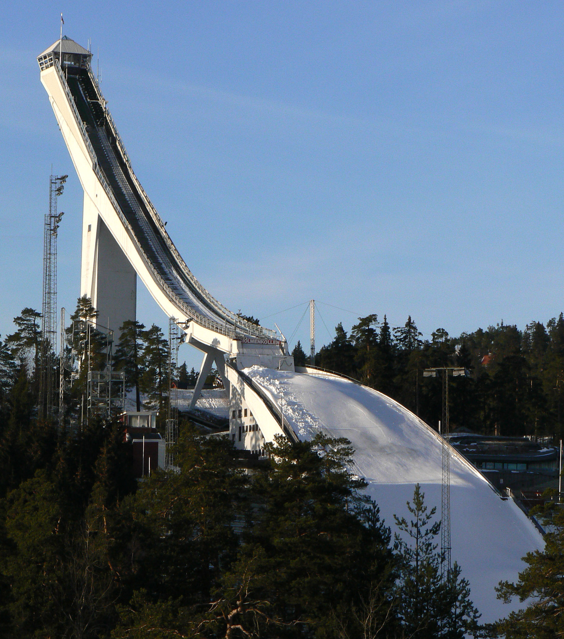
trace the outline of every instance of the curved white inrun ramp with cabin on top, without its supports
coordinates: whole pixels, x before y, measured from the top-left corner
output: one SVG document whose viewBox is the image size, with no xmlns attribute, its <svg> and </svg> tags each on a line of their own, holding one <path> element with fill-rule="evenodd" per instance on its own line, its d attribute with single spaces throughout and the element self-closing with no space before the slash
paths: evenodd
<svg viewBox="0 0 564 639">
<path fill-rule="evenodd" d="M 84 224 L 87 209 L 93 212 L 90 215 L 99 216 L 157 304 L 169 317 L 184 323 L 187 339 L 194 346 L 205 353 L 212 349 L 214 355 L 268 355 L 274 366 L 277 358 L 291 366 L 283 336 L 229 311 L 191 273 L 132 170 L 91 72 L 90 52 L 68 38 L 61 42 L 62 56 L 57 41 L 38 57 L 38 63 L 84 189 Z M 83 231 L 83 242 L 85 237 Z"/>
</svg>

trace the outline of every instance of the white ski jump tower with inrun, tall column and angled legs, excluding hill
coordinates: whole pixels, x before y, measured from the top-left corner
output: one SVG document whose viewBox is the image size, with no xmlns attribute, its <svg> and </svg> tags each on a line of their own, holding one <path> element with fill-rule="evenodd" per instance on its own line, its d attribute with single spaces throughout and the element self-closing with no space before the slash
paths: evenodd
<svg viewBox="0 0 564 639">
<path fill-rule="evenodd" d="M 226 309 L 189 270 L 136 178 L 91 58 L 66 36 L 38 56 L 42 84 L 84 189 L 81 295 L 91 298 L 100 323 L 119 335 L 124 320 L 136 319 L 139 277 L 184 328 L 186 341 L 203 352 L 194 403 L 214 362 L 226 388 L 226 361 L 233 371 L 253 364 L 293 371 L 283 335 Z"/>
</svg>

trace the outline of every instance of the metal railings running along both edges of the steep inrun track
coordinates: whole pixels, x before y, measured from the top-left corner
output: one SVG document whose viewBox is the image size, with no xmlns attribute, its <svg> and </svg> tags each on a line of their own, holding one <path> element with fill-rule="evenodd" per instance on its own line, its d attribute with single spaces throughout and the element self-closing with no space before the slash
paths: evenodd
<svg viewBox="0 0 564 639">
<path fill-rule="evenodd" d="M 120 218 L 121 223 L 125 227 L 125 230 L 127 231 L 127 234 L 129 235 L 130 239 L 132 240 L 132 242 L 136 246 L 137 252 L 139 252 L 139 254 L 141 255 L 141 258 L 145 262 L 145 265 L 148 268 L 149 272 L 151 273 L 153 279 L 157 282 L 157 284 L 159 284 L 159 286 L 161 287 L 162 291 L 164 293 L 166 293 L 166 295 L 169 297 L 171 302 L 173 302 L 173 304 L 176 305 L 178 310 L 182 311 L 188 319 L 190 319 L 192 321 L 195 321 L 196 323 L 198 323 L 199 325 L 201 325 L 204 328 L 209 328 L 210 330 L 213 330 L 214 332 L 217 332 L 217 333 L 222 334 L 222 335 L 226 335 L 226 336 L 230 337 L 231 339 L 237 339 L 237 335 L 241 335 L 241 336 L 244 336 L 244 335 L 256 335 L 258 337 L 264 336 L 264 335 L 269 335 L 269 336 L 272 336 L 272 337 L 276 337 L 276 332 L 275 331 L 272 331 L 272 330 L 266 329 L 266 328 L 262 328 L 262 327 L 260 327 L 260 329 L 257 329 L 257 327 L 255 325 L 252 325 L 252 324 L 248 323 L 245 320 L 239 319 L 238 316 L 236 316 L 231 311 L 226 309 L 226 307 L 224 307 L 222 304 L 217 302 L 217 300 L 215 300 L 215 298 L 203 286 L 201 286 L 200 282 L 198 282 L 198 280 L 196 280 L 194 275 L 192 275 L 192 273 L 190 272 L 188 267 L 185 265 L 184 259 L 182 259 L 182 257 L 180 256 L 180 254 L 178 253 L 178 250 L 176 250 L 176 247 L 174 246 L 172 240 L 170 239 L 170 236 L 168 235 L 168 233 L 164 229 L 164 224 L 162 222 L 161 217 L 156 212 L 156 210 L 153 207 L 152 203 L 150 203 L 150 200 L 148 199 L 148 197 L 145 194 L 145 190 L 143 190 L 143 187 L 141 187 L 141 185 L 139 184 L 139 181 L 137 180 L 135 174 L 133 173 L 133 171 L 131 169 L 129 156 L 127 155 L 127 152 L 125 151 L 125 147 L 123 147 L 123 142 L 121 142 L 121 138 L 119 137 L 119 134 L 118 134 L 118 132 L 117 132 L 117 130 L 115 128 L 115 125 L 113 123 L 113 119 L 111 119 L 111 115 L 109 114 L 109 111 L 107 111 L 107 109 L 105 107 L 104 97 L 102 96 L 101 92 L 99 91 L 98 84 L 97 84 L 97 82 L 95 82 L 95 79 L 93 78 L 93 75 L 91 74 L 91 70 L 90 70 L 90 67 L 89 67 L 88 68 L 88 72 L 90 74 L 91 80 L 93 80 L 93 84 L 95 86 L 95 89 L 97 89 L 98 95 L 100 96 L 100 98 L 102 100 L 104 100 L 104 111 L 106 112 L 106 115 L 108 116 L 108 121 L 109 121 L 111 130 L 112 130 L 112 133 L 114 134 L 114 137 L 116 137 L 116 141 L 118 141 L 118 143 L 119 143 L 120 153 L 122 153 L 122 157 L 125 160 L 125 162 L 127 163 L 127 166 L 130 169 L 130 173 L 134 177 L 136 186 L 139 187 L 141 195 L 143 196 L 143 199 L 145 199 L 145 203 L 148 205 L 148 210 L 149 210 L 150 214 L 152 215 L 153 220 L 155 220 L 155 222 L 157 222 L 157 224 L 158 224 L 159 228 L 161 229 L 161 231 L 164 231 L 164 234 L 163 234 L 164 235 L 164 239 L 168 240 L 168 242 L 167 242 L 168 245 L 171 245 L 172 252 L 175 255 L 175 257 L 177 258 L 177 260 L 179 261 L 180 266 L 184 266 L 185 270 L 189 273 L 191 283 L 193 283 L 195 285 L 195 288 L 197 288 L 198 291 L 200 291 L 202 293 L 202 295 L 205 297 L 205 300 L 203 300 L 203 301 L 204 302 L 208 302 L 208 304 L 210 304 L 212 307 L 216 307 L 217 310 L 221 310 L 221 312 L 223 312 L 223 314 L 225 314 L 230 319 L 232 319 L 233 320 L 233 328 L 228 327 L 227 322 L 225 322 L 225 324 L 223 325 L 223 324 L 215 322 L 215 321 L 213 321 L 213 320 L 211 320 L 209 318 L 206 318 L 205 316 L 201 315 L 197 311 L 194 311 L 194 309 L 189 307 L 189 305 L 185 304 L 185 302 L 183 300 L 181 300 L 178 297 L 178 295 L 176 295 L 176 293 L 174 293 L 174 291 L 170 288 L 170 286 L 167 284 L 167 282 L 165 282 L 164 279 L 161 277 L 161 274 L 157 271 L 155 266 L 153 266 L 152 261 L 148 258 L 147 254 L 145 252 L 145 249 L 143 249 L 143 247 L 141 246 L 141 243 L 139 242 L 139 240 L 138 240 L 138 238 L 137 238 L 132 226 L 130 225 L 129 221 L 127 220 L 127 218 L 123 214 L 123 211 L 121 210 L 120 205 L 116 201 L 116 198 L 114 197 L 114 194 L 113 194 L 113 190 L 111 189 L 111 187 L 109 187 L 109 184 L 106 181 L 106 177 L 104 176 L 104 173 L 102 172 L 102 170 L 100 169 L 100 166 L 98 165 L 98 158 L 97 158 L 96 152 L 95 152 L 95 150 L 94 150 L 94 148 L 93 148 L 93 146 L 92 146 L 92 144 L 90 142 L 90 137 L 88 136 L 88 131 L 86 130 L 86 127 L 84 126 L 84 122 L 82 121 L 82 118 L 81 118 L 81 116 L 79 114 L 79 111 L 78 111 L 77 106 L 75 104 L 74 96 L 72 95 L 72 91 L 70 91 L 70 87 L 68 86 L 67 79 L 65 78 L 65 74 L 62 72 L 61 66 L 59 65 L 59 61 L 58 61 L 58 59 L 55 56 L 50 56 L 50 59 L 48 59 L 47 64 L 43 63 L 42 67 L 40 65 L 40 67 L 42 69 L 49 68 L 49 66 L 54 66 L 54 68 L 56 69 L 56 72 L 57 72 L 58 77 L 59 77 L 59 81 L 61 82 L 61 86 L 63 87 L 63 90 L 65 91 L 65 95 L 67 96 L 68 104 L 71 107 L 71 111 L 74 114 L 75 121 L 77 123 L 77 126 L 79 127 L 80 132 L 81 132 L 82 140 L 84 141 L 84 144 L 86 146 L 86 150 L 88 151 L 88 155 L 90 156 L 90 160 L 92 162 L 92 169 L 93 169 L 94 173 L 96 174 L 96 176 L 98 178 L 98 181 L 100 181 L 100 185 L 104 189 L 104 192 L 106 192 L 106 195 L 107 195 L 108 199 L 110 200 L 114 210 L 118 214 L 118 217 Z M 153 213 L 154 213 L 154 215 L 153 215 Z M 155 219 L 155 215 L 156 215 L 157 219 Z M 249 325 L 248 328 L 246 326 L 247 324 Z M 238 330 L 238 329 L 240 329 L 240 330 Z"/>
</svg>

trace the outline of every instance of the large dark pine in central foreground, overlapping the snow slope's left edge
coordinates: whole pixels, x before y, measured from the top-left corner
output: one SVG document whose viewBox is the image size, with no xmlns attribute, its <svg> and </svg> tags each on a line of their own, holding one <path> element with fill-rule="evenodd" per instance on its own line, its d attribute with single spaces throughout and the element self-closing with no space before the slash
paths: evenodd
<svg viewBox="0 0 564 639">
<path fill-rule="evenodd" d="M 262 613 L 270 625 L 258 636 L 333 636 L 338 628 L 356 628 L 350 611 L 368 601 L 370 592 L 380 625 L 388 629 L 394 619 L 387 621 L 384 612 L 394 581 L 389 531 L 361 494 L 363 480 L 346 469 L 350 442 L 323 435 L 297 443 L 277 438 L 267 449 L 270 465 L 253 477 L 251 487 L 263 507 L 253 514 L 241 549 L 247 562 L 253 560 L 251 600 L 269 603 Z M 372 587 L 384 575 L 380 589 Z M 242 579 L 239 574 L 235 583 Z M 251 622 L 252 615 L 246 619 Z"/>
</svg>

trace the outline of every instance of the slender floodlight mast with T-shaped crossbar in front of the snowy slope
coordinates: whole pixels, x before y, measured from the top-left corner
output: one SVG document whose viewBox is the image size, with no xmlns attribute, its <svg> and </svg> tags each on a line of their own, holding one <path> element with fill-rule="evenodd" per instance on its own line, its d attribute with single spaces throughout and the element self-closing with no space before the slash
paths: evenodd
<svg viewBox="0 0 564 639">
<path fill-rule="evenodd" d="M 437 373 L 442 373 L 443 387 L 443 419 L 439 421 L 439 435 L 443 443 L 443 466 L 441 472 L 441 579 L 448 581 L 451 573 L 451 543 L 450 543 L 450 443 L 449 435 L 449 413 L 448 413 L 448 375 L 451 372 L 453 377 L 469 376 L 466 368 L 458 366 L 439 366 L 426 368 L 423 377 L 437 377 Z"/>
</svg>

